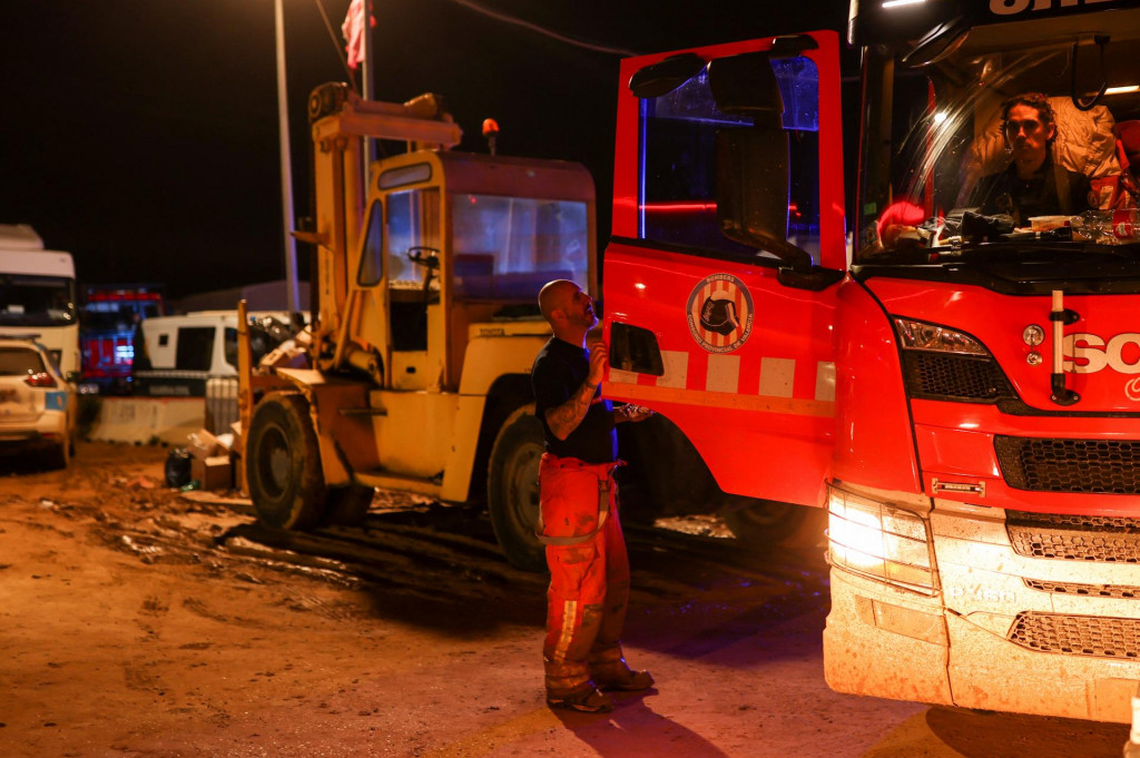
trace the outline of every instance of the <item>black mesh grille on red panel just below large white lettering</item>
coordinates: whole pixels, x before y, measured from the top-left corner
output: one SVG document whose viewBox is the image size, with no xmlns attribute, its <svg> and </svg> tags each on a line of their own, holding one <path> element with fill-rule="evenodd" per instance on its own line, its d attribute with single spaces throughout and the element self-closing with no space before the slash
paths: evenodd
<svg viewBox="0 0 1140 758">
<path fill-rule="evenodd" d="M 1002 476 L 1034 492 L 1140 492 L 1140 442 L 994 438 Z"/>
</svg>

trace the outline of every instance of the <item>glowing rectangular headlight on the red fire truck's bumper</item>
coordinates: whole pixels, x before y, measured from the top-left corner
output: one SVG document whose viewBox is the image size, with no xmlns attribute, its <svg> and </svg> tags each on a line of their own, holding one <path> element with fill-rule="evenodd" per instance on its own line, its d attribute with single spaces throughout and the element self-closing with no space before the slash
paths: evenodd
<svg viewBox="0 0 1140 758">
<path fill-rule="evenodd" d="M 905 589 L 937 588 L 926 522 L 910 511 L 828 489 L 828 556 L 832 565 Z"/>
</svg>

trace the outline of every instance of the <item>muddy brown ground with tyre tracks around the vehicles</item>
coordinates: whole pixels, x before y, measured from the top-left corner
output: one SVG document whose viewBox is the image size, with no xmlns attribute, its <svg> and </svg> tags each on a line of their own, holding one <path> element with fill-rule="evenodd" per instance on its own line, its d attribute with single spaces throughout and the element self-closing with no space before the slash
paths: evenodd
<svg viewBox="0 0 1140 758">
<path fill-rule="evenodd" d="M 658 687 L 545 707 L 545 580 L 486 519 L 378 496 L 363 529 L 255 525 L 163 484 L 161 447 L 0 458 L 5 758 L 1118 756 L 1119 725 L 830 692 L 816 549 L 627 530 L 627 653 Z"/>
</svg>

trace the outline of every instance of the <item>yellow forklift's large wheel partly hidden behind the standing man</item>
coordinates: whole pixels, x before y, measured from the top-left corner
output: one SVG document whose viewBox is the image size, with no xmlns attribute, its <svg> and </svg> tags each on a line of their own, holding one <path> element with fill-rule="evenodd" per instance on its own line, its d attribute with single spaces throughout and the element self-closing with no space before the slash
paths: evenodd
<svg viewBox="0 0 1140 758">
<path fill-rule="evenodd" d="M 495 537 L 511 565 L 523 571 L 546 567 L 546 552 L 535 537 L 542 456 L 543 426 L 535 417 L 535 406 L 523 406 L 499 430 L 487 476 L 487 507 Z"/>
</svg>

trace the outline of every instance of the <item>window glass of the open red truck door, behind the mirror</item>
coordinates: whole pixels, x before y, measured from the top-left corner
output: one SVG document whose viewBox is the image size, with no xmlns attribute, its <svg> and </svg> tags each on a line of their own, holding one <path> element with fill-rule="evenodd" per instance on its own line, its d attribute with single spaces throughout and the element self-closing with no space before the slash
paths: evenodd
<svg viewBox="0 0 1140 758">
<path fill-rule="evenodd" d="M 819 72 L 808 58 L 775 59 L 771 65 L 789 137 L 788 239 L 819 262 Z M 749 129 L 752 119 L 717 107 L 707 70 L 671 92 L 643 99 L 641 108 L 638 236 L 716 256 L 774 261 L 722 235 L 717 221 L 717 132 Z"/>
</svg>

